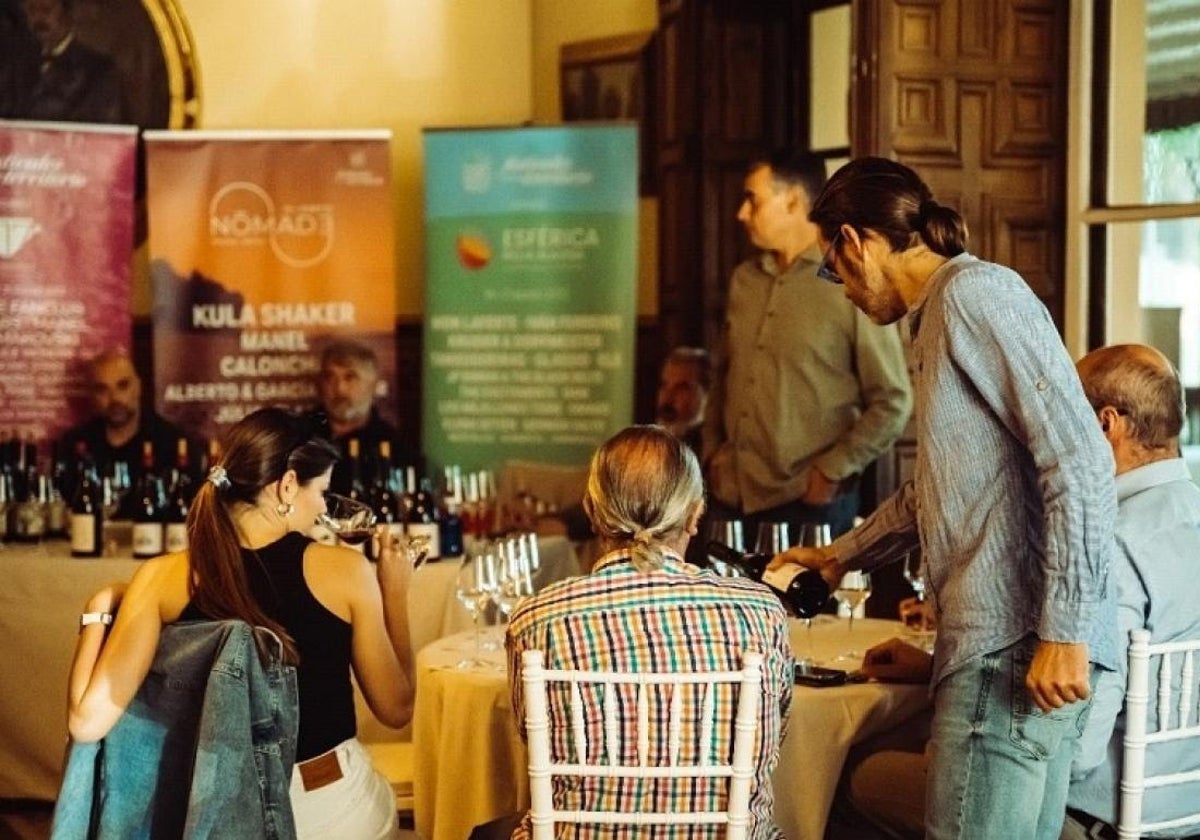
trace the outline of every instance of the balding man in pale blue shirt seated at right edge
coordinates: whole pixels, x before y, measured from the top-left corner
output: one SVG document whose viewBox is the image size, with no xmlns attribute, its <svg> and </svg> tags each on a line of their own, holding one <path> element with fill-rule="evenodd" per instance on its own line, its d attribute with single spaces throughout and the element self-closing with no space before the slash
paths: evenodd
<svg viewBox="0 0 1200 840">
<path fill-rule="evenodd" d="M 1116 464 L 1110 574 L 1120 670 L 1100 672 L 1097 682 L 1075 746 L 1061 840 L 1116 840 L 1129 630 L 1147 628 L 1151 643 L 1200 636 L 1200 488 L 1181 457 L 1183 389 L 1166 356 L 1145 344 L 1116 344 L 1088 353 L 1075 370 Z M 892 682 L 919 682 L 929 668 L 928 654 L 899 640 L 868 650 L 863 662 L 868 676 Z M 1174 751 L 1159 749 L 1147 773 L 1200 768 L 1200 754 L 1188 742 Z M 919 752 L 876 752 L 853 770 L 851 800 L 898 835 L 920 836 L 924 779 Z M 1158 822 L 1178 816 L 1189 805 L 1194 810 L 1198 797 L 1200 785 L 1152 791 L 1144 817 Z"/>
</svg>

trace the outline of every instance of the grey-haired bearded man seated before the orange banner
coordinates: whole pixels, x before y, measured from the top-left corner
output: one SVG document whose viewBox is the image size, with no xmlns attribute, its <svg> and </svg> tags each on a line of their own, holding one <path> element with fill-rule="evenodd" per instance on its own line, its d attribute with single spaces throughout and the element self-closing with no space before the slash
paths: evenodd
<svg viewBox="0 0 1200 840">
<path fill-rule="evenodd" d="M 371 481 L 389 464 L 380 461 L 379 444 L 391 448 L 390 464 L 416 464 L 415 454 L 401 446 L 396 427 L 383 419 L 374 406 L 379 385 L 379 361 L 374 352 L 355 341 L 335 341 L 320 354 L 317 395 L 320 406 L 313 412 L 329 421 L 329 438 L 342 450 L 334 466 L 329 488 L 346 496 L 354 481 L 352 448 L 358 449 L 359 480 Z M 355 442 L 352 444 L 352 442 Z"/>
</svg>

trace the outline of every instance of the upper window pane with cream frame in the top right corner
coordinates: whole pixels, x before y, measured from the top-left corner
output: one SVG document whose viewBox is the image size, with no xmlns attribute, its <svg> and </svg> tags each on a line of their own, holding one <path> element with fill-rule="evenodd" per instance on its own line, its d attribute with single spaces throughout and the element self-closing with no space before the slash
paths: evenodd
<svg viewBox="0 0 1200 840">
<path fill-rule="evenodd" d="M 1109 200 L 1200 200 L 1200 0 L 1111 8 Z"/>
</svg>

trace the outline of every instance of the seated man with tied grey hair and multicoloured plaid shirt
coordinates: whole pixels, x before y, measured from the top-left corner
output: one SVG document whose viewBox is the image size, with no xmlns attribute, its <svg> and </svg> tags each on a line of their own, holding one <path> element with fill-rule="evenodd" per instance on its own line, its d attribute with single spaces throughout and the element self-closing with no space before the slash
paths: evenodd
<svg viewBox="0 0 1200 840">
<path fill-rule="evenodd" d="M 512 712 L 523 733 L 521 656 L 526 650 L 542 650 L 550 668 L 626 672 L 736 670 L 748 652 L 757 650 L 764 660 L 748 836 L 776 840 L 782 834 L 772 816 L 770 776 L 792 696 L 787 620 L 766 587 L 721 578 L 684 563 L 683 553 L 704 508 L 703 494 L 695 454 L 660 426 L 630 426 L 600 446 L 592 458 L 583 509 L 602 553 L 589 574 L 552 583 L 514 611 L 506 638 Z M 553 721 L 564 722 L 568 714 L 564 706 L 551 703 Z M 588 714 L 587 719 L 589 743 L 604 743 L 602 716 Z M 722 732 L 718 749 L 727 750 L 731 738 L 732 728 Z M 686 733 L 682 743 L 690 743 Z M 654 748 L 666 749 L 665 740 Z M 659 758 L 649 761 L 661 763 Z M 647 786 L 659 784 L 667 782 L 607 779 L 580 788 L 556 778 L 554 803 L 566 810 L 602 810 L 628 802 L 635 788 L 648 794 Z M 726 787 L 724 780 L 704 780 L 677 782 L 671 793 L 666 790 L 662 796 L 679 797 L 674 800 L 686 810 L 697 797 L 724 797 Z M 503 828 L 514 823 L 511 836 L 529 836 L 528 815 L 480 827 L 473 836 L 502 836 Z M 637 830 L 634 826 L 583 826 L 576 836 L 626 838 Z M 722 836 L 724 828 L 697 828 L 694 835 Z"/>
</svg>

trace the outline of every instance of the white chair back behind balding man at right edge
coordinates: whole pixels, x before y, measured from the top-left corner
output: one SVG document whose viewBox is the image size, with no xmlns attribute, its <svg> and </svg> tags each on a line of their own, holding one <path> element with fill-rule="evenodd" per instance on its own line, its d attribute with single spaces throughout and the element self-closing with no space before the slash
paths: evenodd
<svg viewBox="0 0 1200 840">
<path fill-rule="evenodd" d="M 1200 826 L 1200 799 L 1195 811 L 1158 822 L 1142 820 L 1147 790 L 1200 782 L 1200 761 L 1187 772 L 1146 775 L 1146 754 L 1159 744 L 1196 739 L 1189 750 L 1200 756 L 1200 672 L 1196 660 L 1200 638 L 1150 643 L 1150 631 L 1129 634 L 1129 676 L 1126 684 L 1124 757 L 1121 764 L 1121 811 L 1117 836 L 1136 840 L 1144 833 Z M 1158 690 L 1154 728 L 1150 730 L 1150 678 L 1156 672 Z M 1189 832 L 1180 832 L 1187 834 Z"/>
</svg>

